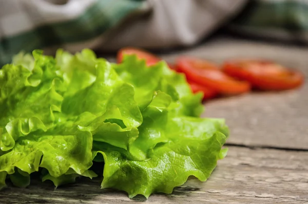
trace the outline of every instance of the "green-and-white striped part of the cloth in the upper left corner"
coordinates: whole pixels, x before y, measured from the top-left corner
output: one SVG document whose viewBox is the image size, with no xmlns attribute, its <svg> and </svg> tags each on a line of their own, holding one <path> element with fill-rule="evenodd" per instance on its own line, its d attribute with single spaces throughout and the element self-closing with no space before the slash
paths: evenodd
<svg viewBox="0 0 308 204">
<path fill-rule="evenodd" d="M 74 47 L 95 39 L 141 8 L 142 1 L 0 0 L 0 5 L 3 65 L 21 50 L 31 52 L 53 46 L 70 50 L 70 44 Z"/>
</svg>

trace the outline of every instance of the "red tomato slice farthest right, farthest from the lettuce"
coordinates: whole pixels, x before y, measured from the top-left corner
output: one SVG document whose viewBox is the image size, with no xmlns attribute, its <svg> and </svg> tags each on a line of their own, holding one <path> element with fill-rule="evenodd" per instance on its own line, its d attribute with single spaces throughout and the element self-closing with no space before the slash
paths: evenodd
<svg viewBox="0 0 308 204">
<path fill-rule="evenodd" d="M 223 71 L 232 77 L 246 80 L 262 90 L 285 90 L 300 86 L 304 77 L 299 71 L 285 68 L 270 61 L 228 61 Z"/>
</svg>

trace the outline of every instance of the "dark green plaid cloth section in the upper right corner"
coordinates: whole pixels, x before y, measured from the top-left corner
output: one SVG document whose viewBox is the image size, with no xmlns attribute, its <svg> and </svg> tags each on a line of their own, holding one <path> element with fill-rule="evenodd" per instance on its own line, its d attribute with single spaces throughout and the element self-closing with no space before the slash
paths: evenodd
<svg viewBox="0 0 308 204">
<path fill-rule="evenodd" d="M 228 29 L 245 35 L 308 42 L 308 1 L 251 0 Z"/>
</svg>

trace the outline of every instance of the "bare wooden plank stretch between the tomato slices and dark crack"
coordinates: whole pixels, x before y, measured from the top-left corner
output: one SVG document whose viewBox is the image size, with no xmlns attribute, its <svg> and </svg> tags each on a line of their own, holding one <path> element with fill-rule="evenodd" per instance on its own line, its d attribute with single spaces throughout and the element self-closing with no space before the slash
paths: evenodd
<svg viewBox="0 0 308 204">
<path fill-rule="evenodd" d="M 308 149 L 308 84 L 301 90 L 210 101 L 203 116 L 225 118 L 228 143 Z"/>
</svg>

